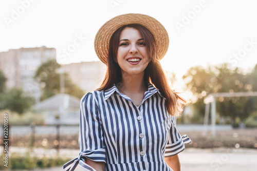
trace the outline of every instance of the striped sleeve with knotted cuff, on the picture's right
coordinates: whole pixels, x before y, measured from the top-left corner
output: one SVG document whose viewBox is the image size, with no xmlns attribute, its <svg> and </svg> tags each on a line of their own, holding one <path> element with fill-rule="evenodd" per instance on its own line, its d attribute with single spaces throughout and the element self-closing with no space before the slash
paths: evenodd
<svg viewBox="0 0 257 171">
<path fill-rule="evenodd" d="M 179 154 L 185 149 L 184 143 L 190 143 L 191 140 L 187 135 L 180 136 L 176 129 L 176 117 L 172 117 L 169 139 L 166 145 L 164 157 L 171 157 Z"/>
</svg>

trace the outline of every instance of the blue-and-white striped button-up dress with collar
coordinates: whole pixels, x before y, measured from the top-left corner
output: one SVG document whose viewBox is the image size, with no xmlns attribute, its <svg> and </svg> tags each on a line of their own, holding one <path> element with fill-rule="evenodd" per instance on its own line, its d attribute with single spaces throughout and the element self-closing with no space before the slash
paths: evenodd
<svg viewBox="0 0 257 171">
<path fill-rule="evenodd" d="M 95 170 L 85 158 L 105 162 L 105 170 L 172 170 L 164 157 L 177 155 L 191 140 L 179 135 L 176 117 L 169 115 L 164 102 L 150 83 L 139 107 L 115 85 L 85 94 L 80 106 L 81 153 L 64 170 L 75 170 L 78 164 Z"/>
</svg>

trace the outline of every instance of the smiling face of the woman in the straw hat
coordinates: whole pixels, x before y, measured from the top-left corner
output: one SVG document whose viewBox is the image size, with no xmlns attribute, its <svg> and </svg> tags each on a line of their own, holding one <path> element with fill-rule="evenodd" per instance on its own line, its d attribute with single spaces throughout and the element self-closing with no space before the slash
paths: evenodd
<svg viewBox="0 0 257 171">
<path fill-rule="evenodd" d="M 117 61 L 122 74 L 124 72 L 144 74 L 144 69 L 149 63 L 149 56 L 144 40 L 137 29 L 127 27 L 121 31 Z"/>
</svg>

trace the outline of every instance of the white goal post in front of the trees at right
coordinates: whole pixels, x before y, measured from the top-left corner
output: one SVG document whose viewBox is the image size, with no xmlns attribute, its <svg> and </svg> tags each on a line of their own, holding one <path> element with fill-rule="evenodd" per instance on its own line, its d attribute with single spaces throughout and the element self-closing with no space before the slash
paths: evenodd
<svg viewBox="0 0 257 171">
<path fill-rule="evenodd" d="M 216 100 L 215 98 L 223 97 L 252 97 L 257 96 L 257 91 L 252 92 L 219 92 L 211 93 L 207 98 L 205 98 L 205 118 L 204 118 L 204 135 L 207 132 L 207 125 L 209 120 L 209 111 L 211 104 L 211 134 L 213 137 L 216 135 Z"/>
</svg>

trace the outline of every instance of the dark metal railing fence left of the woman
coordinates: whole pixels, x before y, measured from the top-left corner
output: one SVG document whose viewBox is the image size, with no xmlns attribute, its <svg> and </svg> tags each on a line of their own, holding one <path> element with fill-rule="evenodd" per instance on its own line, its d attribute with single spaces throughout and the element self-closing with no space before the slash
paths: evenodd
<svg viewBox="0 0 257 171">
<path fill-rule="evenodd" d="M 9 146 L 42 148 L 79 148 L 79 125 L 8 126 Z M 1 137 L 4 127 L 1 125 Z M 3 141 L 4 138 L 1 139 Z M 1 142 L 3 144 L 3 142 Z"/>
</svg>

